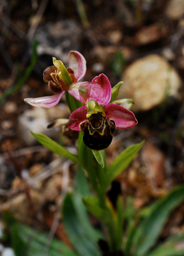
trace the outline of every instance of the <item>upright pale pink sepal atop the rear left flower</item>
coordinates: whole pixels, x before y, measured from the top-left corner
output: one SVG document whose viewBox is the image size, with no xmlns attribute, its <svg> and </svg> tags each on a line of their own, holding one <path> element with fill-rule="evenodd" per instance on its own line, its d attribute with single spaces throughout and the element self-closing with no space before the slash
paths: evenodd
<svg viewBox="0 0 184 256">
<path fill-rule="evenodd" d="M 68 67 L 74 71 L 74 76 L 79 81 L 86 73 L 86 60 L 84 56 L 80 52 L 70 51 L 68 54 Z"/>
</svg>

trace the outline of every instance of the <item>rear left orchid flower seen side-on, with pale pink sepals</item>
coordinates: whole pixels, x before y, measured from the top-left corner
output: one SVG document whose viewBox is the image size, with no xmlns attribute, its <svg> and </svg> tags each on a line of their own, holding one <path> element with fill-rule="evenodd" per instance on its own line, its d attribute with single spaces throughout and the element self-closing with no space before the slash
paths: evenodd
<svg viewBox="0 0 184 256">
<path fill-rule="evenodd" d="M 70 51 L 68 54 L 67 69 L 63 62 L 53 59 L 54 66 L 44 70 L 44 81 L 48 83 L 49 88 L 55 94 L 39 98 L 26 98 L 24 101 L 34 107 L 51 108 L 59 103 L 63 93 L 67 90 L 77 100 L 80 100 L 78 87 L 81 78 L 86 73 L 86 60 L 84 56 L 77 51 Z"/>
</svg>

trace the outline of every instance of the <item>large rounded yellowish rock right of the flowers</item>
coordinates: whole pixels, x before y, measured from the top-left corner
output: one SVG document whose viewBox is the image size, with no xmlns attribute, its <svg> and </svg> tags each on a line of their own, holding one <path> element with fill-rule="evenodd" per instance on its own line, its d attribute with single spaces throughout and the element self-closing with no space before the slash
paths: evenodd
<svg viewBox="0 0 184 256">
<path fill-rule="evenodd" d="M 181 79 L 174 68 L 159 55 L 148 55 L 134 61 L 121 79 L 118 99 L 135 101 L 132 111 L 146 111 L 159 105 L 166 97 L 179 99 Z"/>
</svg>

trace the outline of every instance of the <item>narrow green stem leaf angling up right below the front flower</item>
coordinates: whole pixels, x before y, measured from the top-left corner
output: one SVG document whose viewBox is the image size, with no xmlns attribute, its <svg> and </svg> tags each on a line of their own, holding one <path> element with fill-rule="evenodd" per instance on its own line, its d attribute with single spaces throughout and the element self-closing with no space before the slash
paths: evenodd
<svg viewBox="0 0 184 256">
<path fill-rule="evenodd" d="M 121 172 L 123 172 L 132 162 L 135 155 L 139 152 L 144 144 L 144 140 L 138 144 L 126 148 L 112 164 L 108 167 L 108 184 L 110 184 Z"/>
</svg>

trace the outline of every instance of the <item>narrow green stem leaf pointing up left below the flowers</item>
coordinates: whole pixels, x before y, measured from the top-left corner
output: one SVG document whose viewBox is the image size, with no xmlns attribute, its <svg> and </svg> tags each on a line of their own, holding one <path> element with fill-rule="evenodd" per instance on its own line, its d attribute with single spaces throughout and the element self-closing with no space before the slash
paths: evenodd
<svg viewBox="0 0 184 256">
<path fill-rule="evenodd" d="M 35 132 L 31 132 L 31 134 L 36 138 L 36 140 L 38 140 L 45 148 L 48 148 L 49 150 L 51 150 L 52 152 L 63 156 L 67 159 L 72 160 L 73 162 L 75 162 L 76 164 L 80 164 L 79 158 L 77 155 L 72 154 L 71 152 L 69 152 L 66 148 L 62 147 L 60 144 L 58 144 L 57 142 L 55 142 L 54 140 L 50 139 L 49 137 L 47 137 L 44 134 L 41 133 L 35 133 Z"/>
</svg>

